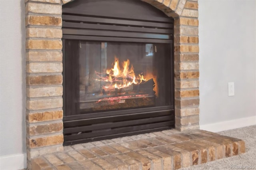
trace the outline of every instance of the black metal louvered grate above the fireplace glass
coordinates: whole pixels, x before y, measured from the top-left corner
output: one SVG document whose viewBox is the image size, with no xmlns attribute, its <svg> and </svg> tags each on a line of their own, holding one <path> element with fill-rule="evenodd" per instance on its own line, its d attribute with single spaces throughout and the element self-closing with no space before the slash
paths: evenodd
<svg viewBox="0 0 256 170">
<path fill-rule="evenodd" d="M 172 43 L 173 23 L 62 15 L 63 38 L 115 42 Z"/>
</svg>

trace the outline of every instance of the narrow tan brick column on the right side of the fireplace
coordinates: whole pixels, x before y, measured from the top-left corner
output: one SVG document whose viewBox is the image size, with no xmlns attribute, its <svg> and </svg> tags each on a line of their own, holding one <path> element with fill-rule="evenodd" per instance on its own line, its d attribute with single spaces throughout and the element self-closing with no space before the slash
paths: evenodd
<svg viewBox="0 0 256 170">
<path fill-rule="evenodd" d="M 198 2 L 187 0 L 175 18 L 176 129 L 199 128 Z"/>
</svg>

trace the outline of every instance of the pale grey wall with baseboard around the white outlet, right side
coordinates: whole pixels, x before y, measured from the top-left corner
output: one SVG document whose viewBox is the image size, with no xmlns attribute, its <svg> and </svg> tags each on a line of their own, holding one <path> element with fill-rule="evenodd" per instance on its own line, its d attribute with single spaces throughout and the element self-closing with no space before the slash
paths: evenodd
<svg viewBox="0 0 256 170">
<path fill-rule="evenodd" d="M 200 128 L 256 124 L 256 1 L 199 0 Z M 228 97 L 228 82 L 235 95 Z"/>
</svg>

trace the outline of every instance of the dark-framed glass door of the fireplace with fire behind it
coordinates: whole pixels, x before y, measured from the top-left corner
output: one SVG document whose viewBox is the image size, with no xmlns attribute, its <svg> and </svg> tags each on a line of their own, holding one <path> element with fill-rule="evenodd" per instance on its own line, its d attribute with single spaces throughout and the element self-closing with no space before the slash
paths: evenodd
<svg viewBox="0 0 256 170">
<path fill-rule="evenodd" d="M 171 105 L 171 44 L 65 40 L 66 116 Z"/>
</svg>

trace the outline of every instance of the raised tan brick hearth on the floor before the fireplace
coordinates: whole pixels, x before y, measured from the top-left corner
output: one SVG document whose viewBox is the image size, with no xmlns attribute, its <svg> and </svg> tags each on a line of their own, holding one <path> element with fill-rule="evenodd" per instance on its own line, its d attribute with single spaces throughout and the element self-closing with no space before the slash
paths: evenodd
<svg viewBox="0 0 256 170">
<path fill-rule="evenodd" d="M 244 141 L 216 133 L 164 130 L 73 146 L 32 159 L 33 170 L 172 170 L 242 154 Z"/>
</svg>

